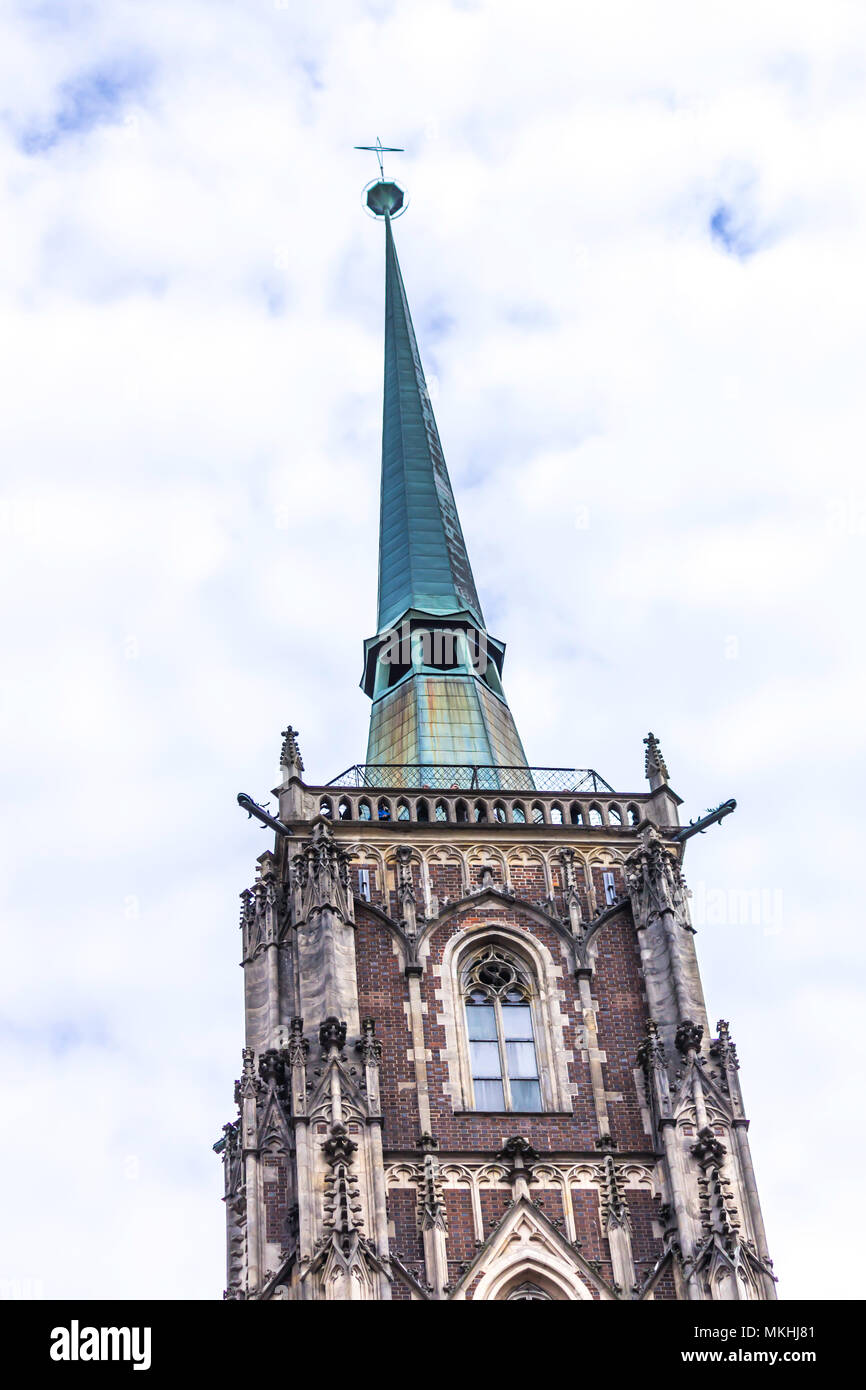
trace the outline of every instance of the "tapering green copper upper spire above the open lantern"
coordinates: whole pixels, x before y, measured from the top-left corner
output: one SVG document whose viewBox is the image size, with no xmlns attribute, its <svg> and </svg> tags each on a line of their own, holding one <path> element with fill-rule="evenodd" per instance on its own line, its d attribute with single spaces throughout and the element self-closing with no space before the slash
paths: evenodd
<svg viewBox="0 0 866 1390">
<path fill-rule="evenodd" d="M 409 313 L 388 202 L 375 211 L 385 221 L 378 630 L 392 627 L 410 609 L 435 616 L 468 612 L 484 627 Z"/>
</svg>

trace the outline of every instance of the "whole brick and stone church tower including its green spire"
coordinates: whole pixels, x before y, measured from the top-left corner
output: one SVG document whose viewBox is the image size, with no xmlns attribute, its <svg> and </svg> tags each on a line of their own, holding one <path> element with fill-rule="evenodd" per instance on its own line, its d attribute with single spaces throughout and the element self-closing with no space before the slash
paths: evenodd
<svg viewBox="0 0 866 1390">
<path fill-rule="evenodd" d="M 363 764 L 284 733 L 240 910 L 228 1298 L 766 1300 L 740 1063 L 712 1030 L 659 741 L 646 783 L 531 767 L 385 231 Z"/>
</svg>

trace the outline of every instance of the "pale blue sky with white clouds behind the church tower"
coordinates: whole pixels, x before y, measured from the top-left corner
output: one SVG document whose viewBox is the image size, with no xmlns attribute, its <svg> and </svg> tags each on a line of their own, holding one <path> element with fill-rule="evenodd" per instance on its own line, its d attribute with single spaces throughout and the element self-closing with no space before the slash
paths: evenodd
<svg viewBox="0 0 866 1390">
<path fill-rule="evenodd" d="M 780 1291 L 862 1297 L 863 7 L 10 0 L 0 68 L 0 1293 L 222 1290 L 235 795 L 366 748 L 381 135 L 530 760 L 737 798 L 710 1016 Z"/>
</svg>

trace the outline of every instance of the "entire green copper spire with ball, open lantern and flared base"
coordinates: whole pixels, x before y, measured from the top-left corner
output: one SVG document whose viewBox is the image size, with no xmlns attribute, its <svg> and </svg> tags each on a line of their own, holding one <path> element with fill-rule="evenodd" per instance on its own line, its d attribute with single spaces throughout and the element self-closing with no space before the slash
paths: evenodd
<svg viewBox="0 0 866 1390">
<path fill-rule="evenodd" d="M 525 767 L 468 563 L 434 417 L 392 218 L 403 192 L 379 179 L 367 207 L 385 222 L 385 403 L 378 631 L 366 644 L 373 698 L 368 764 Z M 421 783 L 423 776 L 420 774 Z"/>
</svg>

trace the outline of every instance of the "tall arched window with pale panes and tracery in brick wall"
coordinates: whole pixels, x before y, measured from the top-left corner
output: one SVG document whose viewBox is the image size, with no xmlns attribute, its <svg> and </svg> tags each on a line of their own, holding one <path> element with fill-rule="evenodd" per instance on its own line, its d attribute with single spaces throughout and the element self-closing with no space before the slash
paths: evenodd
<svg viewBox="0 0 866 1390">
<path fill-rule="evenodd" d="M 532 991 L 524 967 L 488 947 L 463 979 L 477 1111 L 541 1111 Z"/>
</svg>

